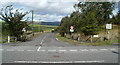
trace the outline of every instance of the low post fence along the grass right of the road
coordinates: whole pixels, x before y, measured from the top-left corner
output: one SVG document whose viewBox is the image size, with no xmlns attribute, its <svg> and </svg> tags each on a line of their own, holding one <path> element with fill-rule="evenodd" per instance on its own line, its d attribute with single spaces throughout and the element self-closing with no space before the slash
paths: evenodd
<svg viewBox="0 0 120 65">
<path fill-rule="evenodd" d="M 101 42 L 101 41 L 109 41 L 109 40 L 114 40 L 115 38 L 117 38 L 116 35 L 111 35 L 110 39 L 107 38 L 107 36 L 103 36 L 103 35 L 91 35 L 91 36 L 84 36 L 84 35 L 70 35 L 67 34 L 66 36 L 64 36 L 68 39 L 72 39 L 72 40 L 77 40 L 79 42 Z"/>
</svg>

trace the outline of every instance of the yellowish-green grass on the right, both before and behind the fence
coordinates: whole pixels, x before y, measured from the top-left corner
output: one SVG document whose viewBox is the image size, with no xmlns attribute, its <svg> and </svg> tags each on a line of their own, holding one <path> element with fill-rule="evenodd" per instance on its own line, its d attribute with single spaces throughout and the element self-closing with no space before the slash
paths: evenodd
<svg viewBox="0 0 120 65">
<path fill-rule="evenodd" d="M 109 41 L 98 41 L 98 42 L 93 42 L 93 43 L 90 43 L 90 42 L 80 42 L 80 41 L 77 41 L 77 40 L 71 40 L 70 39 L 70 35 L 67 34 L 66 35 L 66 38 L 65 37 L 61 37 L 61 35 L 59 33 L 56 33 L 56 37 L 59 39 L 59 40 L 62 40 L 64 42 L 68 42 L 70 44 L 80 44 L 80 45 L 92 45 L 92 46 L 105 46 L 105 45 L 112 45 L 112 43 L 118 43 L 118 41 L 120 40 L 119 39 L 119 33 L 118 33 L 118 26 L 117 25 L 113 25 L 113 29 L 112 30 L 109 30 L 110 32 L 110 37 L 112 38 L 114 36 L 114 39 L 112 40 L 109 40 Z M 78 36 L 79 33 L 74 33 L 74 38 L 76 38 Z M 98 34 L 99 36 L 107 36 L 106 35 L 106 32 L 105 32 L 105 29 L 101 30 Z M 87 39 L 88 37 L 82 37 L 84 39 Z M 96 38 L 93 38 L 93 40 L 95 40 Z"/>
</svg>

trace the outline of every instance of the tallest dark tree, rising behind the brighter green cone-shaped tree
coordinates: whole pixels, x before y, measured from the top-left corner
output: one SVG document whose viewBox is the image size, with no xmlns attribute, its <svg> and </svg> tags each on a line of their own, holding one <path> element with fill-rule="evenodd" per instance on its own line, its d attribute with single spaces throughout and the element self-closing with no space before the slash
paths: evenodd
<svg viewBox="0 0 120 65">
<path fill-rule="evenodd" d="M 79 2 L 74 5 L 74 8 L 81 11 L 82 14 L 87 14 L 87 12 L 94 10 L 97 14 L 96 19 L 98 25 L 104 25 L 109 22 L 110 15 L 114 9 L 113 2 Z"/>
</svg>

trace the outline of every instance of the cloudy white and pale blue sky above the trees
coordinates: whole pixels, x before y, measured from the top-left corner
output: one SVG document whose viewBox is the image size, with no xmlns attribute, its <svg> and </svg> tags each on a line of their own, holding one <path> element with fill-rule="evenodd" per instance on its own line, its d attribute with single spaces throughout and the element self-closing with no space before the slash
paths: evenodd
<svg viewBox="0 0 120 65">
<path fill-rule="evenodd" d="M 61 21 L 65 16 L 69 16 L 75 11 L 73 5 L 78 3 L 78 0 L 0 0 L 0 8 L 7 5 L 13 5 L 15 9 L 23 8 L 22 12 L 34 11 L 34 21 L 55 22 Z M 116 14 L 116 8 L 113 13 Z M 25 18 L 31 20 L 31 13 Z"/>
</svg>

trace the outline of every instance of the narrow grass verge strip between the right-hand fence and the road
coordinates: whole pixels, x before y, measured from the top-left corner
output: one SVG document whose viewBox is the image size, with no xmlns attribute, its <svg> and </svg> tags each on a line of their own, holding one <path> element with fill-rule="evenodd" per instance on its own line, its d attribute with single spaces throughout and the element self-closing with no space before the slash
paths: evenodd
<svg viewBox="0 0 120 65">
<path fill-rule="evenodd" d="M 69 44 L 74 44 L 74 45 L 88 45 L 88 46 L 111 46 L 112 43 L 118 43 L 118 39 L 114 39 L 111 41 L 101 41 L 101 42 L 95 42 L 95 43 L 88 43 L 88 42 L 79 42 L 77 40 L 71 40 L 65 37 L 61 37 L 59 33 L 56 33 L 56 38 L 58 38 L 61 41 L 67 42 Z"/>
</svg>

